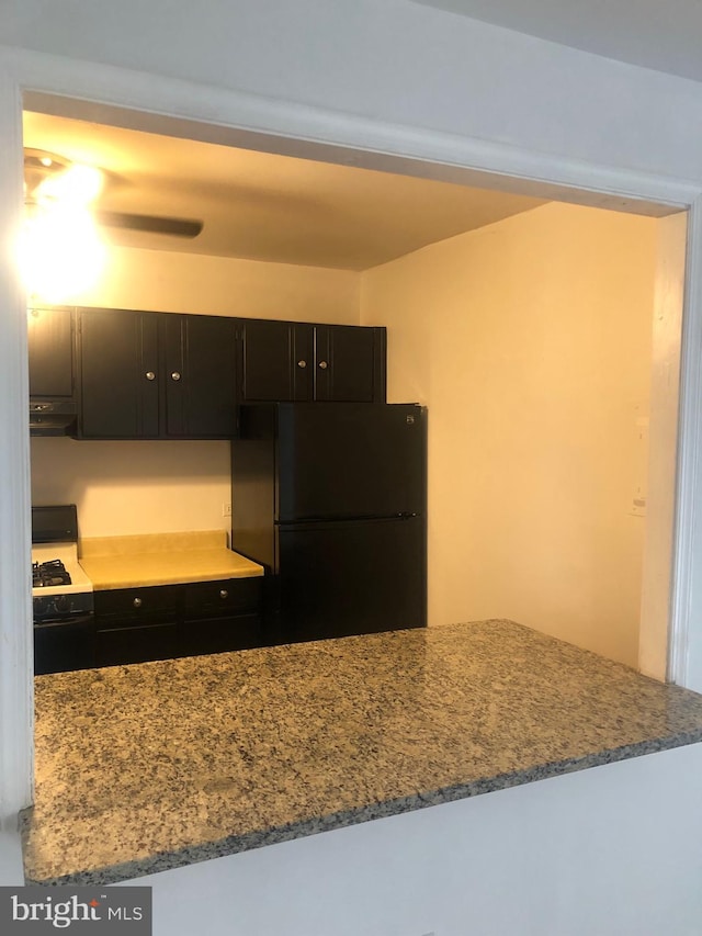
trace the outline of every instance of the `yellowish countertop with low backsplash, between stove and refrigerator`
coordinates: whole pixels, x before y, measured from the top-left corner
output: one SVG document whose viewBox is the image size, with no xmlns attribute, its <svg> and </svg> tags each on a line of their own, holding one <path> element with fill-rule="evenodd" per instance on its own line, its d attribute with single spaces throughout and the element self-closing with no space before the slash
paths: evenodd
<svg viewBox="0 0 702 936">
<path fill-rule="evenodd" d="M 97 591 L 263 575 L 262 565 L 227 549 L 224 530 L 94 537 L 78 553 Z"/>
</svg>

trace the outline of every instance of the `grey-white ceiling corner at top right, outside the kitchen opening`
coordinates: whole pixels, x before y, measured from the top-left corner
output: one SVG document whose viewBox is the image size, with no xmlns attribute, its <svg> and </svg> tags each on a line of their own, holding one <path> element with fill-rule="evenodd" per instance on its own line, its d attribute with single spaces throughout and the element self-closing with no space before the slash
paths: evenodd
<svg viewBox="0 0 702 936">
<path fill-rule="evenodd" d="M 415 0 L 631 65 L 702 81 L 701 0 Z"/>
</svg>

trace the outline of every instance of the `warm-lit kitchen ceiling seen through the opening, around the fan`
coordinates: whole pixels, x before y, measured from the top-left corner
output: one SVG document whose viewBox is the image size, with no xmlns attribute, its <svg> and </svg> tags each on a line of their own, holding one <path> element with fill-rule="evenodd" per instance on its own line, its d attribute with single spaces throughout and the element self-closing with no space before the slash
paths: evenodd
<svg viewBox="0 0 702 936">
<path fill-rule="evenodd" d="M 204 221 L 193 240 L 109 232 L 158 250 L 364 270 L 543 204 L 32 112 L 24 145 L 107 170 L 100 208 Z"/>
</svg>

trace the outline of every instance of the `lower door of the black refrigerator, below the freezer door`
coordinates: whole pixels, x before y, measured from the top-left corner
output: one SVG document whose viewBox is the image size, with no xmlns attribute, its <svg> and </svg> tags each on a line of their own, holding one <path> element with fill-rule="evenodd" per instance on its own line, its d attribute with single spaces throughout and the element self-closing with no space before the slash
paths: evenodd
<svg viewBox="0 0 702 936">
<path fill-rule="evenodd" d="M 281 642 L 426 625 L 423 518 L 293 525 L 279 537 Z"/>
</svg>

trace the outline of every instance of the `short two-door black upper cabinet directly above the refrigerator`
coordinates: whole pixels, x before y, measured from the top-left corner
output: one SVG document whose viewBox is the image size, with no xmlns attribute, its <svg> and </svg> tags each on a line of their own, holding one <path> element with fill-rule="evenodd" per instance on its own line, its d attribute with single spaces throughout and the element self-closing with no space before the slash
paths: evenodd
<svg viewBox="0 0 702 936">
<path fill-rule="evenodd" d="M 241 402 L 385 402 L 385 329 L 240 319 Z"/>
</svg>

